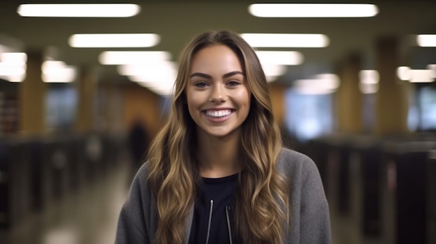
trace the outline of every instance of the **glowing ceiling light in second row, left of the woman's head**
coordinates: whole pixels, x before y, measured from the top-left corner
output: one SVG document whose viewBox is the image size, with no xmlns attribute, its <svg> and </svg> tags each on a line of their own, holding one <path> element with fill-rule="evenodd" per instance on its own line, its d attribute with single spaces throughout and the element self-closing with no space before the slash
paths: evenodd
<svg viewBox="0 0 436 244">
<path fill-rule="evenodd" d="M 153 47 L 159 41 L 153 33 L 75 34 L 68 39 L 71 47 Z"/>
</svg>

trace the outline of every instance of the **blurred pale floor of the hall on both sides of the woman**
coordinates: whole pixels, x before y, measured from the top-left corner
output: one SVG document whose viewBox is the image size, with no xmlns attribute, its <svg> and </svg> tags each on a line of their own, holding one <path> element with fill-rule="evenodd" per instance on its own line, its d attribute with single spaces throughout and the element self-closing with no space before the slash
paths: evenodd
<svg viewBox="0 0 436 244">
<path fill-rule="evenodd" d="M 118 213 L 127 196 L 132 170 L 128 155 L 102 175 L 62 200 L 52 202 L 9 231 L 0 230 L 1 244 L 109 244 L 114 243 Z M 358 189 L 355 189 L 358 190 Z M 335 211 L 334 192 L 329 193 L 332 243 L 376 243 L 359 235 L 354 220 Z"/>
</svg>

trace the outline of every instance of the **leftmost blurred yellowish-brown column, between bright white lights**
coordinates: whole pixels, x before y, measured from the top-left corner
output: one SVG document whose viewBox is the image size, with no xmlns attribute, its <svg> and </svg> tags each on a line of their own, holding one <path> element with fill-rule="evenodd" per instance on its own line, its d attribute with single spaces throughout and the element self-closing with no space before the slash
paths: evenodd
<svg viewBox="0 0 436 244">
<path fill-rule="evenodd" d="M 27 53 L 26 78 L 20 83 L 20 132 L 26 136 L 36 136 L 45 131 L 45 92 L 46 84 L 41 78 L 43 52 L 29 50 Z"/>
</svg>

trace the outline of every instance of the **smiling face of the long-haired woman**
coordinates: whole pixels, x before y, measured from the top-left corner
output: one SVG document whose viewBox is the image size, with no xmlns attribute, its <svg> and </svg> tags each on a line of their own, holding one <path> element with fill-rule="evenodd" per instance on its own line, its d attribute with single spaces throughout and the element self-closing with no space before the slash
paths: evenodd
<svg viewBox="0 0 436 244">
<path fill-rule="evenodd" d="M 225 137 L 239 132 L 250 110 L 251 91 L 238 56 L 223 44 L 198 51 L 186 96 L 198 133 Z"/>
</svg>

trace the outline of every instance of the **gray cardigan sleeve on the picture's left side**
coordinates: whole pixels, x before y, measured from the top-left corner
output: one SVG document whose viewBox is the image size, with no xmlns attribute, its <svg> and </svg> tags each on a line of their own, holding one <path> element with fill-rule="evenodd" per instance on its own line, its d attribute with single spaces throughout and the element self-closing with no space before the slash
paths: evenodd
<svg viewBox="0 0 436 244">
<path fill-rule="evenodd" d="M 150 243 L 144 214 L 145 179 L 141 177 L 141 173 L 143 174 L 143 169 L 140 169 L 134 177 L 127 200 L 120 211 L 115 236 L 116 244 Z"/>
</svg>

